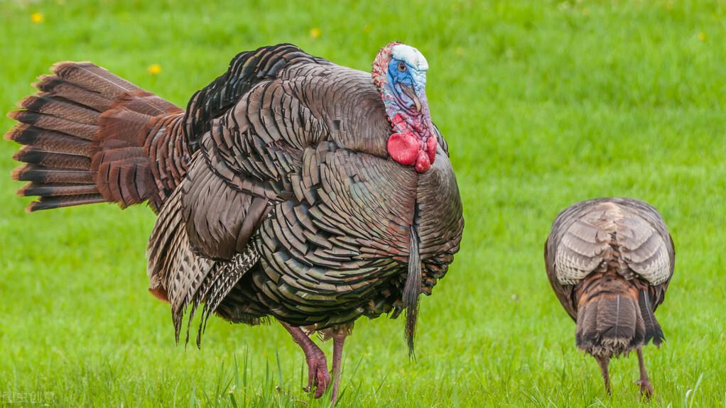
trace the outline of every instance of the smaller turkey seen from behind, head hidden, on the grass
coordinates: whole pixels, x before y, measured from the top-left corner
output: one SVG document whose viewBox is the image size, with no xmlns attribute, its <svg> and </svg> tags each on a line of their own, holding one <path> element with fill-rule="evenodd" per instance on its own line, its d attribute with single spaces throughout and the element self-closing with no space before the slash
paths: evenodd
<svg viewBox="0 0 726 408">
<path fill-rule="evenodd" d="M 666 296 L 675 251 L 661 215 L 643 201 L 594 199 L 560 212 L 544 245 L 547 276 L 577 323 L 577 346 L 595 357 L 610 394 L 608 362 L 637 350 L 640 391 L 653 394 L 642 346 L 660 346 L 653 312 Z"/>
</svg>

